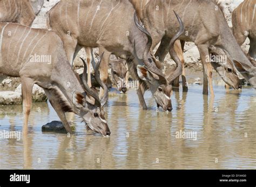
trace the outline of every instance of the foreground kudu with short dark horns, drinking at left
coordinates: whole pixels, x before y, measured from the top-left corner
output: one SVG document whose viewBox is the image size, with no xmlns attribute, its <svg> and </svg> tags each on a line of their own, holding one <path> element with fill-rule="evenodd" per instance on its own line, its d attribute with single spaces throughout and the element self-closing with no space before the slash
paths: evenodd
<svg viewBox="0 0 256 187">
<path fill-rule="evenodd" d="M 99 64 L 96 67 L 96 78 L 104 88 L 101 100 L 84 79 L 83 86 L 80 84 L 66 57 L 63 42 L 55 32 L 21 24 L 0 23 L 0 78 L 21 78 L 23 132 L 28 129 L 32 87 L 37 84 L 44 89 L 67 132 L 72 133 L 72 130 L 65 112 L 74 112 L 83 118 L 91 130 L 104 136 L 109 135 L 103 110 L 108 95 L 106 85 L 99 78 Z M 92 103 L 86 96 L 91 96 L 95 102 Z"/>
</svg>

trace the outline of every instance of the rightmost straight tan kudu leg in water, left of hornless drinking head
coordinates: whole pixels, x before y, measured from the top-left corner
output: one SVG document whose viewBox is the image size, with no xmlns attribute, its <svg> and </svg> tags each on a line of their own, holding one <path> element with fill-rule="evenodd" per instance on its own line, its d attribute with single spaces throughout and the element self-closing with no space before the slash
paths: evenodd
<svg viewBox="0 0 256 187">
<path fill-rule="evenodd" d="M 212 85 L 212 65 L 207 61 L 207 57 L 210 55 L 208 45 L 198 45 L 198 50 L 201 56 L 204 69 L 204 85 L 203 94 L 208 95 L 208 83 L 210 87 L 211 96 L 214 96 L 213 85 Z"/>
</svg>

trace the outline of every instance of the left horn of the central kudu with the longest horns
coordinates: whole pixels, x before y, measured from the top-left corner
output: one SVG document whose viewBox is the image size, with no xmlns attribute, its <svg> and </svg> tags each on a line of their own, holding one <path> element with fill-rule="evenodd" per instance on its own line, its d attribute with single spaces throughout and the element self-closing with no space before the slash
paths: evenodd
<svg viewBox="0 0 256 187">
<path fill-rule="evenodd" d="M 137 18 L 136 12 L 134 12 L 134 22 L 135 22 L 135 25 L 137 26 L 137 28 L 140 31 L 142 31 L 143 33 L 145 33 L 147 36 L 147 44 L 146 44 L 146 47 L 145 47 L 144 53 L 143 53 L 143 63 L 145 64 L 146 68 L 149 69 L 150 71 L 152 71 L 153 73 L 155 73 L 161 77 L 165 77 L 164 74 L 156 67 L 156 65 L 154 63 L 149 62 L 149 60 L 147 59 L 147 55 L 149 54 L 150 48 L 152 46 L 152 37 L 151 37 L 150 33 L 147 32 L 147 30 L 142 25 L 139 24 L 139 20 Z"/>
</svg>

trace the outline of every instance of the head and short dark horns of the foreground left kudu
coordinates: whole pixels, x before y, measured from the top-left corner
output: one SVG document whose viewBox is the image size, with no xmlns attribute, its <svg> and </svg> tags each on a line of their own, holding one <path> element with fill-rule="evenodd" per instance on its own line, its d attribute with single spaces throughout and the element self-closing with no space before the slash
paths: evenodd
<svg viewBox="0 0 256 187">
<path fill-rule="evenodd" d="M 103 56 L 103 54 L 102 54 Z M 82 75 L 82 83 L 84 85 L 84 89 L 86 90 L 86 95 L 91 96 L 95 103 L 91 103 L 88 99 L 82 94 L 76 94 L 77 99 L 77 107 L 79 107 L 79 116 L 83 118 L 87 125 L 87 130 L 92 130 L 103 136 L 109 136 L 110 130 L 109 126 L 107 126 L 107 121 L 105 119 L 105 112 L 103 110 L 103 106 L 106 104 L 108 99 L 108 91 L 106 85 L 100 80 L 99 76 L 99 65 L 102 61 L 102 56 L 100 56 L 100 60 L 95 68 L 95 79 L 99 83 L 100 87 L 104 89 L 104 96 L 102 99 L 99 99 L 99 96 L 95 89 L 90 88 L 86 82 L 86 73 L 87 73 L 87 65 L 84 59 L 80 58 L 84 63 L 84 71 Z M 94 60 L 92 56 L 92 60 Z"/>
</svg>

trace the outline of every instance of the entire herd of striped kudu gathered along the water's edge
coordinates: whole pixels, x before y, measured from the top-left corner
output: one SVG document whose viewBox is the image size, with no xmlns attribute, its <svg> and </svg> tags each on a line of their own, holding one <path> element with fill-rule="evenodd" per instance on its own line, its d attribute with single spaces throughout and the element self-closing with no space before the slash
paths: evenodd
<svg viewBox="0 0 256 187">
<path fill-rule="evenodd" d="M 114 83 L 124 82 L 125 61 L 133 80 L 139 81 L 137 94 L 143 109 L 147 109 L 144 93 L 150 90 L 157 107 L 172 111 L 172 83 L 178 86 L 180 75 L 186 90 L 185 41 L 193 41 L 199 49 L 204 69 L 203 93 L 208 94 L 209 84 L 214 95 L 212 67 L 234 89 L 240 88 L 238 71 L 256 88 L 255 0 L 245 0 L 234 11 L 235 37 L 216 0 L 63 0 L 48 12 L 47 26 L 51 31 L 28 27 L 43 0 L 0 0 L 0 5 L 0 21 L 4 22 L 0 24 L 0 81 L 6 76 L 21 77 L 24 132 L 32 87 L 38 84 L 67 132 L 72 130 L 65 112 L 74 112 L 83 118 L 87 129 L 110 135 L 103 109 L 108 99 L 107 69 L 110 64 Z M 239 46 L 246 37 L 251 42 L 250 59 Z M 83 47 L 87 60 L 82 59 L 84 71 L 80 78 L 72 64 Z M 97 64 L 92 53 L 95 47 L 100 56 Z M 166 73 L 163 62 L 167 53 L 177 67 Z M 111 54 L 119 59 L 110 62 Z M 214 62 L 210 54 L 226 55 L 227 61 Z M 36 56 L 45 55 L 50 56 L 50 62 L 36 60 Z M 101 87 L 99 95 L 91 87 L 91 62 Z M 123 85 L 120 91 L 126 92 Z"/>
</svg>

